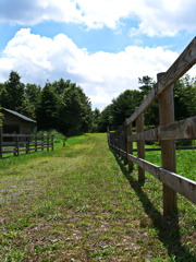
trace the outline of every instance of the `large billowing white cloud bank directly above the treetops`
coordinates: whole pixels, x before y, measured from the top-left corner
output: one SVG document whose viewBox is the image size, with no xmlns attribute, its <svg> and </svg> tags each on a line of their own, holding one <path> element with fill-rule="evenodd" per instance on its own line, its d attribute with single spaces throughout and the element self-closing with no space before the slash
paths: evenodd
<svg viewBox="0 0 196 262">
<path fill-rule="evenodd" d="M 91 98 L 93 106 L 105 107 L 127 88 L 137 88 L 143 75 L 155 78 L 168 70 L 177 53 L 161 47 L 128 46 L 119 53 L 88 53 L 79 49 L 66 35 L 53 39 L 19 31 L 0 57 L 0 82 L 15 70 L 25 83 L 44 85 L 63 78 L 76 82 Z"/>
</svg>

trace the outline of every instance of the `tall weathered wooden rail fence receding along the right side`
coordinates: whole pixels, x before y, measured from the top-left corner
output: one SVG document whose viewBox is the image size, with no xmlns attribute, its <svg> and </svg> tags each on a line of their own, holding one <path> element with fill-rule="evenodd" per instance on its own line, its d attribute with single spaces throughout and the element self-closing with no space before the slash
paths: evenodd
<svg viewBox="0 0 196 262">
<path fill-rule="evenodd" d="M 157 75 L 157 83 L 135 112 L 115 132 L 108 130 L 109 146 L 124 158 L 128 170 L 138 165 L 138 180 L 145 180 L 145 170 L 162 182 L 163 214 L 177 210 L 176 192 L 196 203 L 196 182 L 179 176 L 175 164 L 175 140 L 196 139 L 196 117 L 174 121 L 173 84 L 196 63 L 196 37 L 166 73 Z M 144 131 L 144 111 L 159 99 L 159 127 Z M 133 134 L 136 122 L 136 134 Z M 162 167 L 145 160 L 145 141 L 161 141 Z M 133 155 L 137 142 L 137 157 Z M 194 165 L 194 163 L 192 164 Z"/>
</svg>

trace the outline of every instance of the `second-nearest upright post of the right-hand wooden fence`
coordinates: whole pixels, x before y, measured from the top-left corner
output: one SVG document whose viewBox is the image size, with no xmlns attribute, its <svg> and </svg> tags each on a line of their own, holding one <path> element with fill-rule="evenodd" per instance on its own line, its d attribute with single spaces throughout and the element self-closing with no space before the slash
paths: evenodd
<svg viewBox="0 0 196 262">
<path fill-rule="evenodd" d="M 136 111 L 138 107 L 136 107 Z M 144 132 L 144 114 L 140 114 L 136 119 L 136 132 Z M 145 159 L 145 141 L 137 142 L 137 157 Z M 138 181 L 145 180 L 145 169 L 138 166 Z"/>
</svg>

